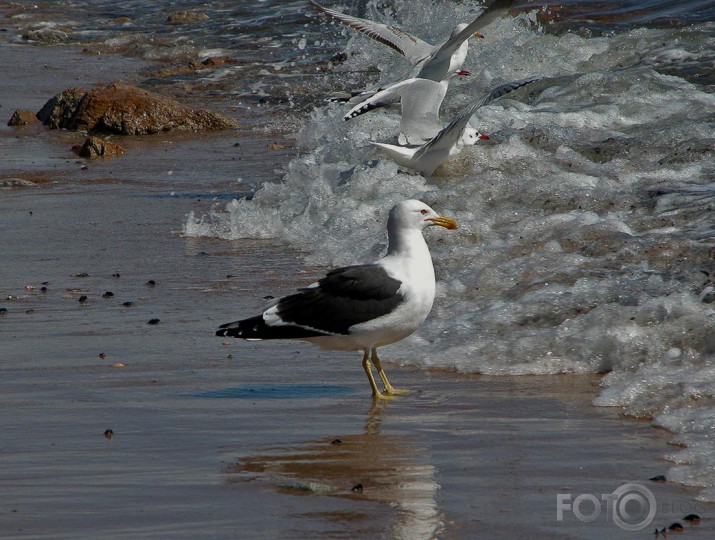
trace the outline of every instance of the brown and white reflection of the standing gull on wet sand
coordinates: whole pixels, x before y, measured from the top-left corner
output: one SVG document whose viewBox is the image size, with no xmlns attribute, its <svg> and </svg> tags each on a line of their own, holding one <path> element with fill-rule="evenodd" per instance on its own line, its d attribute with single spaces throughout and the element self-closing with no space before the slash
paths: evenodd
<svg viewBox="0 0 715 540">
<path fill-rule="evenodd" d="M 443 518 L 435 469 L 414 441 L 380 434 L 387 406 L 384 400 L 373 404 L 361 434 L 267 448 L 237 460 L 226 472 L 231 481 L 260 482 L 279 493 L 349 502 L 348 507 L 326 504 L 318 512 L 309 505 L 300 515 L 330 527 L 343 525 L 353 533 L 360 528 L 385 538 L 434 538 Z"/>
</svg>

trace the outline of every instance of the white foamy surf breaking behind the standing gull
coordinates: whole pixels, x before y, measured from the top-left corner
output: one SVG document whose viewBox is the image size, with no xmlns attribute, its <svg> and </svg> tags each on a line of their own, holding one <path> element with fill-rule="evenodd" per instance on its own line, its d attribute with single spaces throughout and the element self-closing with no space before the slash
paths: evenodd
<svg viewBox="0 0 715 540">
<path fill-rule="evenodd" d="M 437 39 L 476 5 L 438 14 L 428 4 L 396 2 L 390 16 L 415 33 L 436 21 L 426 37 Z M 385 16 L 368 6 L 364 16 Z M 668 478 L 715 500 L 715 96 L 703 73 L 714 31 L 552 34 L 534 13 L 497 20 L 472 42 L 472 76 L 450 88 L 445 117 L 496 84 L 545 79 L 475 115 L 490 141 L 424 178 L 370 144 L 394 140 L 396 113 L 344 122 L 345 106 L 321 103 L 279 181 L 251 200 L 197 207 L 184 233 L 276 238 L 313 263 L 364 262 L 385 248 L 389 208 L 425 200 L 460 229 L 427 232 L 435 308 L 385 356 L 470 373 L 606 373 L 596 405 L 672 431 L 687 448 L 669 456 Z M 336 89 L 406 69 L 345 35 Z"/>
</svg>

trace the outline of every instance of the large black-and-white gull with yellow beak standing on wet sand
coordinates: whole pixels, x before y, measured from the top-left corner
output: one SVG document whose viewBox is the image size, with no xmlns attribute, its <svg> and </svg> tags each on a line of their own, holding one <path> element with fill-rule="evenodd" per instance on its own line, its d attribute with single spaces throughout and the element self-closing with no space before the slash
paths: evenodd
<svg viewBox="0 0 715 540">
<path fill-rule="evenodd" d="M 272 301 L 249 319 L 223 324 L 217 336 L 246 340 L 299 339 L 332 350 L 361 350 L 374 398 L 400 393 L 392 387 L 377 348 L 414 333 L 432 309 L 434 267 L 422 231 L 438 225 L 456 229 L 421 201 L 398 203 L 387 221 L 387 254 L 372 264 L 331 270 L 295 294 Z M 382 379 L 375 384 L 371 362 Z"/>
</svg>

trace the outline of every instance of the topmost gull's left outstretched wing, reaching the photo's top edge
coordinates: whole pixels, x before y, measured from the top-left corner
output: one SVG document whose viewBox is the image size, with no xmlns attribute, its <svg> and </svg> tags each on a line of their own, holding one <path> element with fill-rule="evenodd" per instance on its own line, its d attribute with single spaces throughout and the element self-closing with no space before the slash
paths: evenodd
<svg viewBox="0 0 715 540">
<path fill-rule="evenodd" d="M 396 50 L 402 56 L 407 58 L 412 65 L 415 65 L 426 56 L 429 56 L 434 49 L 434 47 L 429 43 L 422 41 L 420 38 L 415 37 L 408 32 L 405 32 L 398 26 L 388 26 L 386 24 L 377 23 L 367 19 L 346 15 L 345 13 L 335 11 L 334 9 L 323 7 L 314 0 L 310 0 L 310 3 L 313 4 L 315 8 L 327 15 L 330 15 L 341 24 L 344 24 L 353 30 L 357 30 L 369 38 Z"/>
</svg>

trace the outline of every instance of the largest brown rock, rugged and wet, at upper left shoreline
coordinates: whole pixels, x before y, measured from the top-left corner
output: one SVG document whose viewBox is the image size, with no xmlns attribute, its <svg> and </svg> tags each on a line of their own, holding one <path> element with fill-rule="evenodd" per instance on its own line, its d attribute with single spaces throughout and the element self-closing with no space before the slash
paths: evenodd
<svg viewBox="0 0 715 540">
<path fill-rule="evenodd" d="M 240 127 L 236 120 L 220 113 L 192 109 L 165 96 L 122 83 L 89 91 L 70 88 L 45 103 L 37 117 L 53 129 L 118 135 Z"/>
</svg>

